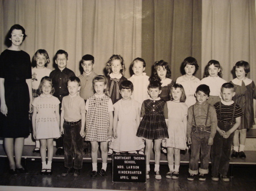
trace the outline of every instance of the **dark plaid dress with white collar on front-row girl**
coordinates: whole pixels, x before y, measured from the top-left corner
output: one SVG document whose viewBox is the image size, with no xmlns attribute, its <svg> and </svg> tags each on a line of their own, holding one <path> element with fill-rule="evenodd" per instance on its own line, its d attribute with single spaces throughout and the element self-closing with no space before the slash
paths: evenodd
<svg viewBox="0 0 256 191">
<path fill-rule="evenodd" d="M 164 100 L 144 100 L 142 107 L 145 115 L 137 130 L 137 136 L 146 139 L 169 138 L 166 120 L 164 118 Z"/>
</svg>

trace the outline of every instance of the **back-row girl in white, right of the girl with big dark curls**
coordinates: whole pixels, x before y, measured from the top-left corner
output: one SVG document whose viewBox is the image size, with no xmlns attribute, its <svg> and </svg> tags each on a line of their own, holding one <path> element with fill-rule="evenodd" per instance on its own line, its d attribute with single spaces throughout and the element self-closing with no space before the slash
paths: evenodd
<svg viewBox="0 0 256 191">
<path fill-rule="evenodd" d="M 181 63 L 181 71 L 184 75 L 176 79 L 176 83 L 183 86 L 186 94 L 185 104 L 188 107 L 196 103 L 195 92 L 197 86 L 200 84 L 200 79 L 196 78 L 193 74 L 199 69 L 196 58 L 187 57 Z"/>
</svg>

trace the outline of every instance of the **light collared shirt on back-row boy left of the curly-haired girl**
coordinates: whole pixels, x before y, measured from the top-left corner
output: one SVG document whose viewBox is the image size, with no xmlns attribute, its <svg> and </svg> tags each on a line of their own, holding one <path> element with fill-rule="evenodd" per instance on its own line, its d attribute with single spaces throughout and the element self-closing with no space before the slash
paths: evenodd
<svg viewBox="0 0 256 191">
<path fill-rule="evenodd" d="M 79 76 L 79 79 L 81 80 L 81 89 L 80 89 L 80 96 L 82 99 L 87 100 L 90 96 L 94 94 L 93 91 L 93 83 L 92 80 L 94 77 L 96 77 L 96 73 L 92 71 L 89 75 L 86 75 L 86 73 L 82 73 L 82 75 Z"/>
</svg>

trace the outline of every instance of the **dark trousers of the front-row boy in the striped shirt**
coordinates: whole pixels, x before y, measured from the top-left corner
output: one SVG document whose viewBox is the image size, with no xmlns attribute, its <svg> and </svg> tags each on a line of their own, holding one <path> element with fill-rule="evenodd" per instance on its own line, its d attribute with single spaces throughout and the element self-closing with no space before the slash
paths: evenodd
<svg viewBox="0 0 256 191">
<path fill-rule="evenodd" d="M 233 125 L 225 124 L 218 121 L 218 128 L 224 131 L 231 129 Z M 213 139 L 212 151 L 210 156 L 212 158 L 212 176 L 227 175 L 229 170 L 230 150 L 232 147 L 234 133 L 229 135 L 229 138 L 223 138 L 218 131 Z"/>
</svg>

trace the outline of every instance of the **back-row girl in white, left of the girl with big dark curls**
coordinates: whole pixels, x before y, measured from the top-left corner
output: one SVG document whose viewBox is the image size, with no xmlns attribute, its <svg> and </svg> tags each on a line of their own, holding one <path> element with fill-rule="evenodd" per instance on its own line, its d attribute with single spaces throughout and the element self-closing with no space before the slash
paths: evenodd
<svg viewBox="0 0 256 191">
<path fill-rule="evenodd" d="M 143 73 L 146 67 L 146 62 L 142 58 L 135 58 L 131 63 L 134 75 L 128 80 L 133 83 L 134 92 L 131 98 L 135 99 L 142 105 L 143 101 L 148 99 L 147 86 L 149 84 L 148 76 Z"/>
</svg>

